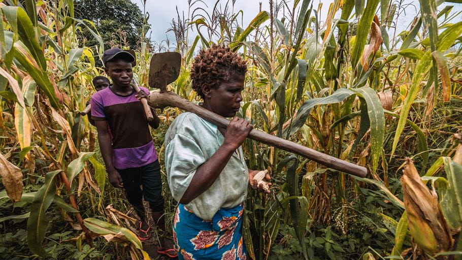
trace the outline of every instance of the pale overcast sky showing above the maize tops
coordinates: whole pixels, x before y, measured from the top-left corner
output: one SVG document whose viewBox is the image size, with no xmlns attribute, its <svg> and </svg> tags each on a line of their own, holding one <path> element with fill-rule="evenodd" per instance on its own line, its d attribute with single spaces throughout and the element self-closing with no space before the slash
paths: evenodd
<svg viewBox="0 0 462 260">
<path fill-rule="evenodd" d="M 131 1 L 136 3 L 140 7 L 140 9 L 143 11 L 143 6 L 142 6 L 143 0 L 131 0 Z M 206 9 L 207 11 L 210 11 L 212 10 L 214 4 L 216 3 L 216 0 L 203 0 L 203 1 L 207 4 L 208 8 L 204 4 L 201 4 L 201 3 L 197 4 L 194 7 L 195 8 L 202 7 Z M 235 12 L 242 10 L 244 13 L 244 16 L 243 16 L 244 26 L 247 26 L 249 22 L 258 14 L 260 2 L 262 3 L 262 10 L 269 11 L 269 1 L 268 0 L 261 0 L 261 1 L 259 0 L 235 0 L 235 1 L 236 1 L 235 6 L 234 6 Z M 221 0 L 220 2 L 224 6 L 226 3 L 226 0 Z M 229 0 L 229 2 L 232 2 L 232 0 Z M 277 2 L 281 2 L 281 1 L 277 1 Z M 291 6 L 291 1 L 289 0 L 287 2 L 288 2 L 288 5 Z M 313 3 L 314 8 L 319 3 L 322 3 L 322 9 L 319 15 L 320 20 L 325 20 L 329 5 L 333 2 L 334 0 L 313 0 L 312 3 Z M 414 16 L 417 13 L 416 8 L 419 8 L 418 0 L 404 0 L 404 2 L 407 4 L 411 4 L 413 6 L 409 6 L 406 9 L 406 14 L 403 13 L 401 15 L 400 22 L 398 23 L 399 31 L 406 29 L 410 21 L 414 18 Z M 462 4 L 454 4 L 454 3 L 442 4 L 439 7 L 439 9 L 444 8 L 444 6 L 447 6 L 447 5 L 454 6 L 452 12 L 462 11 Z M 182 12 L 184 12 L 185 17 L 187 17 L 188 0 L 146 0 L 146 11 L 150 15 L 149 23 L 151 24 L 151 29 L 152 29 L 152 32 L 151 32 L 152 41 L 161 42 L 162 40 L 169 38 L 171 44 L 175 43 L 175 36 L 173 35 L 173 33 L 172 32 L 166 33 L 166 31 L 171 27 L 170 24 L 172 22 L 172 18 L 176 18 L 177 16 L 176 7 L 178 7 L 178 11 L 180 12 L 180 15 Z M 460 21 L 461 19 L 462 17 L 459 17 L 458 21 Z M 190 37 L 189 39 L 191 41 L 193 37 Z"/>
</svg>

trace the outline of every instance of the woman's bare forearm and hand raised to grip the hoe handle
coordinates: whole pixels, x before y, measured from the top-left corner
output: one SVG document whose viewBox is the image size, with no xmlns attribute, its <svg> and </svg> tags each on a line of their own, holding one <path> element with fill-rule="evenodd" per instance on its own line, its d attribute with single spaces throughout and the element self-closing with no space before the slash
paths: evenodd
<svg viewBox="0 0 462 260">
<path fill-rule="evenodd" d="M 233 118 L 229 123 L 223 144 L 201 166 L 196 169 L 188 188 L 183 194 L 180 203 L 186 205 L 199 197 L 216 181 L 229 158 L 242 145 L 253 126 L 240 118 Z"/>
</svg>

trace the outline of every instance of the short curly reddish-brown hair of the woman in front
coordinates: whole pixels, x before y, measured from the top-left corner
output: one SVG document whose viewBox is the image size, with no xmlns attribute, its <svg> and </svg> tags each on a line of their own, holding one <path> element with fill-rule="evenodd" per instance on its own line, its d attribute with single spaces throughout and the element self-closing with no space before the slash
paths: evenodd
<svg viewBox="0 0 462 260">
<path fill-rule="evenodd" d="M 244 76 L 247 72 L 245 60 L 223 45 L 213 44 L 202 49 L 194 58 L 191 68 L 192 88 L 204 99 L 203 86 L 218 88 L 231 77 Z"/>
</svg>

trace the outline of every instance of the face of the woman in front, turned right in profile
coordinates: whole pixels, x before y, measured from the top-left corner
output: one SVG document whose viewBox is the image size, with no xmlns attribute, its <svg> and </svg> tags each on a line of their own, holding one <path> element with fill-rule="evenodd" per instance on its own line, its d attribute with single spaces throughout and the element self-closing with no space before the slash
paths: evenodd
<svg viewBox="0 0 462 260">
<path fill-rule="evenodd" d="M 212 112 L 223 117 L 234 117 L 241 108 L 241 92 L 244 89 L 245 76 L 224 81 L 218 88 L 204 87 L 204 105 Z"/>
</svg>

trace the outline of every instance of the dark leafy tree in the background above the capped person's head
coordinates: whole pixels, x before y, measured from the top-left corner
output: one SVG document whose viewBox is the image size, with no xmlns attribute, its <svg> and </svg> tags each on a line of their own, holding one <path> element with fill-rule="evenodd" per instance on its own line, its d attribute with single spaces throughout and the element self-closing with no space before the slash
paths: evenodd
<svg viewBox="0 0 462 260">
<path fill-rule="evenodd" d="M 141 39 L 143 13 L 127 0 L 76 0 L 76 18 L 92 21 L 106 48 L 114 45 L 136 48 Z M 91 26 L 90 26 L 91 27 Z M 97 45 L 87 29 L 82 30 L 85 46 Z"/>
</svg>

